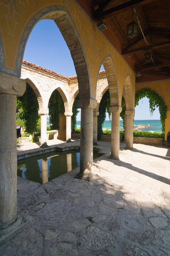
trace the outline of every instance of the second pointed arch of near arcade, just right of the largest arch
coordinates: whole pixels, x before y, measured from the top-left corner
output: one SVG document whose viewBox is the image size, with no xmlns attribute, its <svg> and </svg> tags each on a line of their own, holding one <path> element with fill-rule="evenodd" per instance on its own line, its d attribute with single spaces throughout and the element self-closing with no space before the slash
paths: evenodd
<svg viewBox="0 0 170 256">
<path fill-rule="evenodd" d="M 104 66 L 105 68 L 105 73 L 106 73 L 106 77 L 108 80 L 108 84 L 106 84 L 102 89 L 102 91 L 100 90 L 100 95 L 98 95 L 98 90 L 97 90 L 97 81 L 99 78 L 99 70 L 100 67 Z M 102 59 L 100 66 L 99 66 L 99 70 L 98 70 L 98 75 L 96 77 L 96 97 L 98 99 L 102 99 L 103 94 L 106 92 L 106 90 L 109 89 L 110 92 L 110 99 L 111 99 L 111 106 L 119 106 L 120 102 L 119 102 L 119 86 L 118 86 L 118 81 L 117 81 L 117 76 L 116 76 L 116 70 L 113 64 L 113 59 L 112 56 L 106 55 L 105 58 Z M 97 99 L 96 98 L 96 99 Z M 97 100 L 98 100 L 97 99 Z M 99 100 L 99 102 L 100 102 Z"/>
</svg>

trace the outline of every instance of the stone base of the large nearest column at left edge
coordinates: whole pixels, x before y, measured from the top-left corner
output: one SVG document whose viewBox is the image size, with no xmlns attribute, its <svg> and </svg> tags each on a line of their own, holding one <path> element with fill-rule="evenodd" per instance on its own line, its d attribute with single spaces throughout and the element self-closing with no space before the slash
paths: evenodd
<svg viewBox="0 0 170 256">
<path fill-rule="evenodd" d="M 9 224 L 6 227 L 0 228 L 0 242 L 6 239 L 15 231 L 19 230 L 21 227 L 25 226 L 27 223 L 28 221 L 26 219 L 23 219 L 22 215 L 18 213 L 17 218 L 13 223 Z"/>
</svg>

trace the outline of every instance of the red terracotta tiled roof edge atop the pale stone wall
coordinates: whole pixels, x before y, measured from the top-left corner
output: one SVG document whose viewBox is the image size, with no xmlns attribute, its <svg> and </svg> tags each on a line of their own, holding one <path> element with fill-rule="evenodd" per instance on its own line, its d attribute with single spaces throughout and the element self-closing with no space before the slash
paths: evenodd
<svg viewBox="0 0 170 256">
<path fill-rule="evenodd" d="M 36 64 L 30 63 L 30 62 L 28 62 L 28 61 L 23 61 L 23 64 L 28 65 L 28 66 L 30 66 L 30 67 L 35 67 L 35 68 L 37 68 L 37 69 L 39 69 L 39 70 L 45 71 L 45 72 L 47 72 L 47 73 L 50 73 L 50 74 L 52 74 L 53 76 L 58 76 L 58 77 L 61 77 L 61 78 L 67 79 L 67 80 L 75 80 L 75 79 L 77 79 L 77 76 L 70 76 L 70 77 L 64 76 L 64 75 L 61 75 L 61 74 L 59 74 L 59 73 L 56 73 L 56 72 L 54 72 L 54 71 L 52 71 L 52 70 L 48 70 L 48 69 L 46 69 L 46 68 L 44 68 L 44 67 L 41 67 L 41 66 L 38 66 L 38 65 L 36 65 Z M 104 75 L 104 74 L 105 74 L 105 70 L 100 71 L 99 74 L 103 74 L 103 75 Z"/>
</svg>

